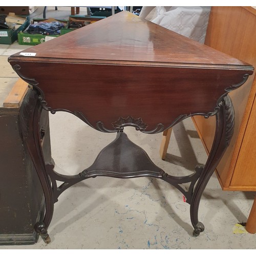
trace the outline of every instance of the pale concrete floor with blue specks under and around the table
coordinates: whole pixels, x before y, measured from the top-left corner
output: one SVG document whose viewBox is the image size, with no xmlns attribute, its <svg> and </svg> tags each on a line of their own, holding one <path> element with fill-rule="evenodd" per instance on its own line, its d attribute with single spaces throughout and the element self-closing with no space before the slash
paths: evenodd
<svg viewBox="0 0 256 256">
<path fill-rule="evenodd" d="M 1 83 L 17 80 L 7 58 L 27 48 L 17 42 L 0 45 Z M 115 138 L 67 113 L 50 114 L 50 130 L 55 170 L 66 175 L 91 165 L 99 151 Z M 190 118 L 174 126 L 166 161 L 159 157 L 161 134 L 146 135 L 132 127 L 125 132 L 168 174 L 187 175 L 197 164 L 206 162 L 207 155 Z M 234 233 L 234 225 L 246 222 L 254 195 L 222 191 L 214 174 L 199 208 L 205 231 L 195 238 L 189 205 L 173 186 L 145 177 L 97 177 L 74 185 L 59 197 L 48 229 L 50 244 L 39 238 L 35 245 L 0 249 L 255 249 L 255 235 L 244 229 Z"/>
</svg>

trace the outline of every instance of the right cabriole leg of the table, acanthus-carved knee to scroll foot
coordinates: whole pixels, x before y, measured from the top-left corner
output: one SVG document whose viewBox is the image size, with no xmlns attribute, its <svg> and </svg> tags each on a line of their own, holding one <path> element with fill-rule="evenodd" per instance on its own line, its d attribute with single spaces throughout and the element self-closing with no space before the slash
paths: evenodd
<svg viewBox="0 0 256 256">
<path fill-rule="evenodd" d="M 220 109 L 216 114 L 216 131 L 214 143 L 207 162 L 202 170 L 197 185 L 193 191 L 190 204 L 190 218 L 193 227 L 195 228 L 193 235 L 199 236 L 200 232 L 204 230 L 204 225 L 198 221 L 198 209 L 202 193 L 221 160 L 231 137 L 234 128 L 234 109 L 229 96 L 224 97 L 223 101 L 219 103 Z"/>
</svg>

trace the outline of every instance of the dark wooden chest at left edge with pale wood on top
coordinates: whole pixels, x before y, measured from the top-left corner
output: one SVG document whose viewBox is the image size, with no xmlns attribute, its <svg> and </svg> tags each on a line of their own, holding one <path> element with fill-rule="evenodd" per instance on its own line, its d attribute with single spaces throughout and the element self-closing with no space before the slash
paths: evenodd
<svg viewBox="0 0 256 256">
<path fill-rule="evenodd" d="M 33 162 L 24 146 L 20 105 L 28 90 L 22 79 L 1 84 L 0 95 L 0 245 L 34 244 L 34 224 L 44 214 L 44 193 Z M 40 118 L 42 151 L 51 159 L 49 114 Z M 43 132 L 44 131 L 44 132 Z M 49 160 L 48 160 L 49 161 Z"/>
</svg>

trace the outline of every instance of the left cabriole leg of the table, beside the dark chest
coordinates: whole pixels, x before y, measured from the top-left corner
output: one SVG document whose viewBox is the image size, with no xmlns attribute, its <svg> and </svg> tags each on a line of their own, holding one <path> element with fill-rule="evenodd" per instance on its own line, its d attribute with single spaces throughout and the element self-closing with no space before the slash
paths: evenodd
<svg viewBox="0 0 256 256">
<path fill-rule="evenodd" d="M 53 215 L 53 195 L 41 148 L 39 131 L 41 111 L 42 108 L 38 100 L 38 94 L 36 90 L 30 89 L 20 109 L 20 123 L 22 126 L 23 141 L 28 148 L 45 196 L 45 217 L 43 221 L 39 221 L 35 224 L 35 230 L 40 233 L 46 243 L 49 243 L 50 238 L 47 233 L 47 228 Z"/>
</svg>

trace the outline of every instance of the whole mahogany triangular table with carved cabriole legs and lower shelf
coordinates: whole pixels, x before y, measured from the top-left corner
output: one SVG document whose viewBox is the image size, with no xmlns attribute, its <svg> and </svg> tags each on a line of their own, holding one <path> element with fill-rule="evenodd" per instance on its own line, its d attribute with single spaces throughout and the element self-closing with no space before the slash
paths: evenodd
<svg viewBox="0 0 256 256">
<path fill-rule="evenodd" d="M 190 204 L 194 236 L 204 230 L 198 221 L 200 198 L 233 133 L 234 112 L 227 94 L 253 73 L 251 65 L 125 11 L 14 54 L 9 62 L 33 88 L 22 105 L 29 120 L 23 138 L 44 189 L 46 212 L 35 230 L 46 242 L 59 195 L 97 176 L 167 181 Z M 42 109 L 72 113 L 117 137 L 81 173 L 60 175 L 42 154 Z M 216 117 L 215 140 L 205 166 L 196 166 L 194 174 L 184 177 L 165 173 L 123 132 L 129 125 L 146 134 L 160 133 L 194 115 Z M 57 186 L 57 181 L 62 184 Z M 182 183 L 190 183 L 188 190 Z"/>
</svg>

